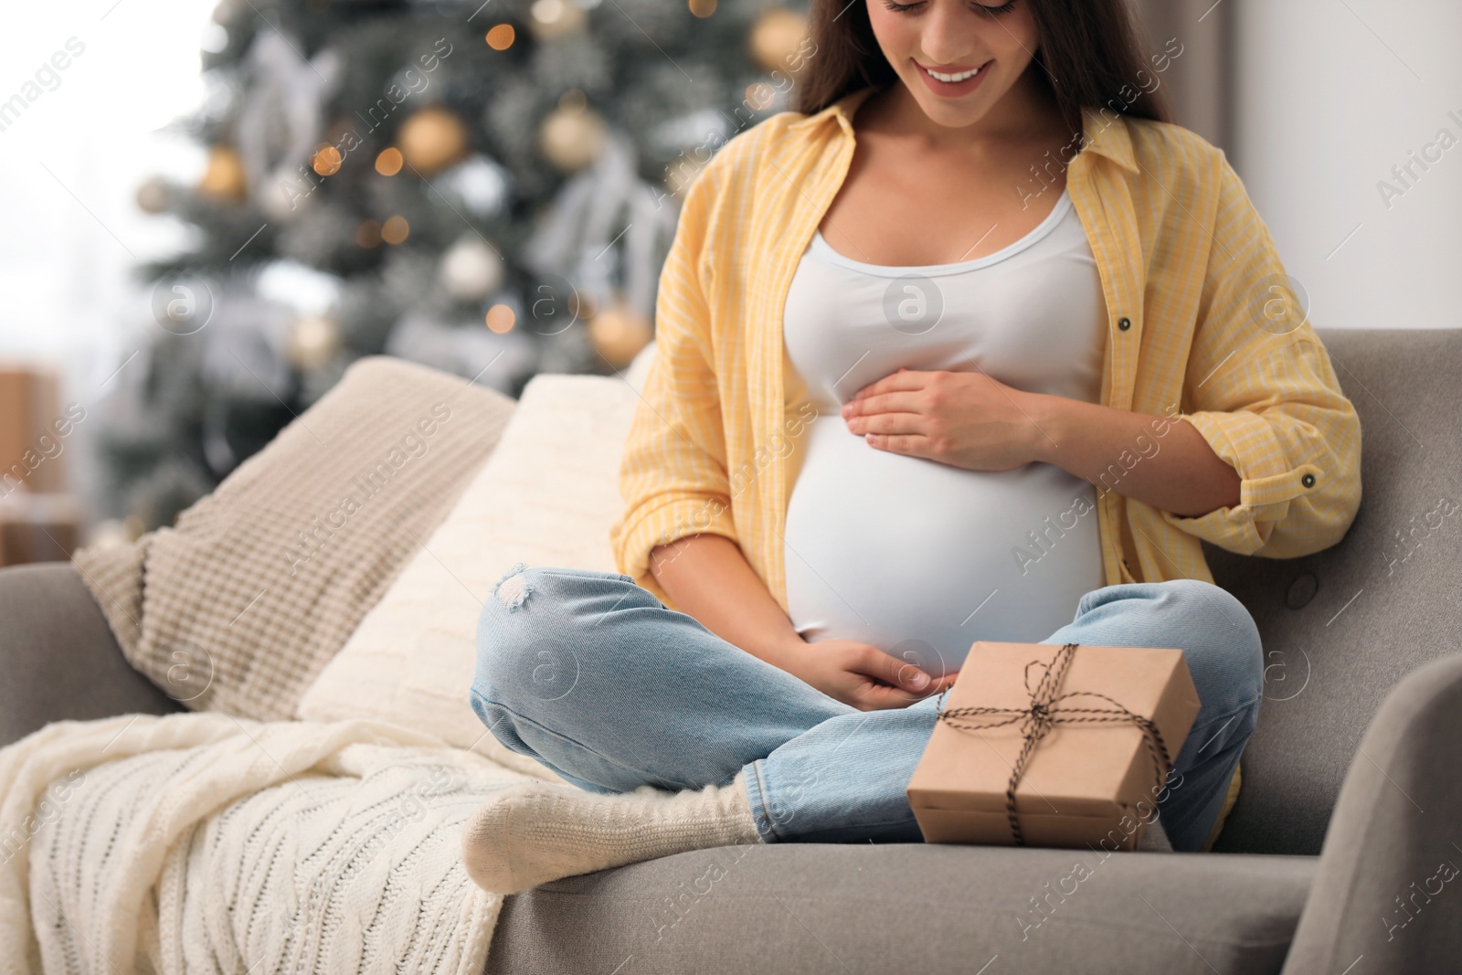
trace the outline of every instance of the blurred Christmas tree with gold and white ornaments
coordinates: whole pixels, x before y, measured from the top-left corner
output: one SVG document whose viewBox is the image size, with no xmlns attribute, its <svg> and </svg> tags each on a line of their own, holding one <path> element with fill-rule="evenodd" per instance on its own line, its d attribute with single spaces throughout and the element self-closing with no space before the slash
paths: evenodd
<svg viewBox="0 0 1462 975">
<path fill-rule="evenodd" d="M 791 107 L 806 0 L 222 0 L 196 228 L 101 436 L 105 512 L 168 525 L 361 355 L 518 396 L 651 339 L 678 203 Z"/>
</svg>

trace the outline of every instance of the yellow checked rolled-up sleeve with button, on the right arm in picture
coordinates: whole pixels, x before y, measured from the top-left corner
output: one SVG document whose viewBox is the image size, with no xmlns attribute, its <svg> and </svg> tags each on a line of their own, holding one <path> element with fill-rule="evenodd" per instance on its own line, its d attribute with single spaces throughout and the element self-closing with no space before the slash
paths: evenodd
<svg viewBox="0 0 1462 975">
<path fill-rule="evenodd" d="M 1268 228 L 1222 161 L 1222 190 L 1184 377 L 1192 422 L 1240 477 L 1234 507 L 1162 512 L 1183 532 L 1244 555 L 1329 548 L 1361 500 L 1361 427 Z"/>
</svg>

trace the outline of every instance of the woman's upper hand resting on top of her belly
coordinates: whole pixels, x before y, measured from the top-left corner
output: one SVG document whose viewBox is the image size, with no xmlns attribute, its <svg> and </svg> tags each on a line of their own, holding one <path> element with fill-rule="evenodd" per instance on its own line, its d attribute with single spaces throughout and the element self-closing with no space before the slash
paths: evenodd
<svg viewBox="0 0 1462 975">
<path fill-rule="evenodd" d="M 879 450 L 969 471 L 1009 471 L 1038 459 L 1045 434 L 1032 393 L 985 373 L 901 368 L 842 406 L 848 430 Z"/>
</svg>

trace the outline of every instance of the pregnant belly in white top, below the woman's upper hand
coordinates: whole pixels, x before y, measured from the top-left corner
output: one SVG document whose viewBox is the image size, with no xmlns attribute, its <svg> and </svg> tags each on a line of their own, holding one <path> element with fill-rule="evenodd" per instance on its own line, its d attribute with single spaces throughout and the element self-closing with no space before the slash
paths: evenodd
<svg viewBox="0 0 1462 975">
<path fill-rule="evenodd" d="M 870 643 L 934 674 L 975 640 L 1035 643 L 1104 583 L 1095 491 L 1050 463 L 965 471 L 808 430 L 787 509 L 787 599 L 808 642 Z"/>
</svg>

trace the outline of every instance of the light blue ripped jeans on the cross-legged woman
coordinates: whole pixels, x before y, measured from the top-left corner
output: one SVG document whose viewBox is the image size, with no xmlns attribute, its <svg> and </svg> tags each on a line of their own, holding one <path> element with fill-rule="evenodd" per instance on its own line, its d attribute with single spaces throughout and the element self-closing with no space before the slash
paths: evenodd
<svg viewBox="0 0 1462 975">
<path fill-rule="evenodd" d="M 1202 849 L 1259 715 L 1249 611 L 1193 579 L 1104 586 L 1041 643 L 1184 648 L 1202 709 L 1158 813 L 1174 849 Z M 905 786 L 936 696 L 858 710 L 626 574 L 515 566 L 478 620 L 471 700 L 504 747 L 583 789 L 699 789 L 744 769 L 765 842 L 923 841 Z"/>
</svg>

